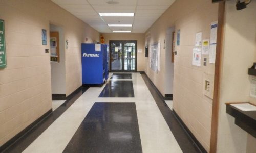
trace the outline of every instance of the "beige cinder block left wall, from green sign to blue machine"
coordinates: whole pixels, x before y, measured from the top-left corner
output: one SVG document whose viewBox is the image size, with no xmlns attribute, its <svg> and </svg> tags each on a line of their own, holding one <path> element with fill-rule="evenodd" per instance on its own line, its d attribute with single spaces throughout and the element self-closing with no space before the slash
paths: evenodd
<svg viewBox="0 0 256 153">
<path fill-rule="evenodd" d="M 49 24 L 59 25 L 66 49 L 66 94 L 81 85 L 82 42 L 99 41 L 99 33 L 50 0 L 0 1 L 5 20 L 7 68 L 0 69 L 0 146 L 52 108 Z M 41 29 L 47 30 L 42 45 Z"/>
</svg>

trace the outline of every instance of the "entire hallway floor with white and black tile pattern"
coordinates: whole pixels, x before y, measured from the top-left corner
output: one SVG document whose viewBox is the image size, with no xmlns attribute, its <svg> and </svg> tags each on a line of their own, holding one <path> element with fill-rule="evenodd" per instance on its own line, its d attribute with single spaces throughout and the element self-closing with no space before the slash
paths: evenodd
<svg viewBox="0 0 256 153">
<path fill-rule="evenodd" d="M 198 152 L 174 120 L 172 101 L 155 100 L 143 74 L 131 74 L 122 79 L 110 73 L 104 86 L 67 100 L 47 125 L 35 127 L 45 129 L 28 133 L 7 152 Z"/>
</svg>

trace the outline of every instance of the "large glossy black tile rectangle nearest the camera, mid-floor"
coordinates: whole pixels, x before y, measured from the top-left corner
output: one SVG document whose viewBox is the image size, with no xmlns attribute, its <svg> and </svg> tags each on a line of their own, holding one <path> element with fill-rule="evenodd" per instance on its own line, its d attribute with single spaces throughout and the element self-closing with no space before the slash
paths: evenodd
<svg viewBox="0 0 256 153">
<path fill-rule="evenodd" d="M 94 103 L 63 152 L 142 152 L 135 103 Z"/>
</svg>

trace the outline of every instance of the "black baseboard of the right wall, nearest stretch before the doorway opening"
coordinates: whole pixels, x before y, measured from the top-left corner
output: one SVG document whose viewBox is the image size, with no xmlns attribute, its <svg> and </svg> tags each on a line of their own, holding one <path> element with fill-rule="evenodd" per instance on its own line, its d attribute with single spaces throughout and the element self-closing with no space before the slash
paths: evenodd
<svg viewBox="0 0 256 153">
<path fill-rule="evenodd" d="M 187 135 L 190 137 L 191 140 L 194 141 L 195 145 L 203 152 L 203 153 L 207 153 L 207 151 L 205 150 L 205 148 L 203 147 L 203 145 L 197 140 L 197 138 L 193 135 L 193 133 L 188 129 L 188 127 L 186 126 L 186 124 L 182 121 L 182 119 L 179 117 L 179 115 L 175 112 L 175 110 L 173 109 L 173 114 L 176 117 L 176 119 L 178 120 L 178 122 L 181 124 L 181 126 L 183 127 L 183 129 L 185 130 L 185 132 L 187 133 Z"/>
</svg>

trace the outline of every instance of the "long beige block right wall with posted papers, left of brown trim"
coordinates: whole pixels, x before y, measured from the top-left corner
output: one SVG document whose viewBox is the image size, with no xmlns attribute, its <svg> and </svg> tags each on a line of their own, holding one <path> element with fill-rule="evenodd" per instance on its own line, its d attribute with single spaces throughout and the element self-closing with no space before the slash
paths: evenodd
<svg viewBox="0 0 256 153">
<path fill-rule="evenodd" d="M 195 35 L 202 32 L 202 39 L 210 37 L 210 23 L 218 20 L 218 4 L 210 0 L 176 0 L 152 25 L 150 44 L 161 42 L 160 71 L 155 73 L 146 59 L 145 72 L 164 94 L 165 52 L 163 41 L 166 30 L 175 27 L 181 30 L 180 46 L 175 46 L 173 108 L 203 147 L 209 151 L 212 99 L 203 94 L 203 75 L 214 75 L 215 64 L 209 64 L 209 56 L 202 56 L 201 67 L 192 65 Z M 207 66 L 203 66 L 203 58 Z"/>
</svg>

